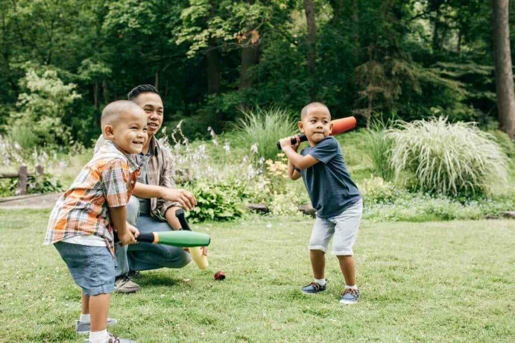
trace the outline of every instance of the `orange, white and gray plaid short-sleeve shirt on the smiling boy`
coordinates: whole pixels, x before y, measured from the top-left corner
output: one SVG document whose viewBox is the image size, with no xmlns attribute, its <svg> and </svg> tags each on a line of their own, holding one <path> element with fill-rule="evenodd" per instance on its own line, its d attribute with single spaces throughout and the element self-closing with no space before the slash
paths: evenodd
<svg viewBox="0 0 515 343">
<path fill-rule="evenodd" d="M 72 186 L 56 202 L 46 231 L 44 244 L 66 238 L 94 234 L 113 246 L 113 227 L 109 207 L 126 206 L 136 184 L 140 164 L 106 140 L 97 154 L 82 168 Z"/>
</svg>

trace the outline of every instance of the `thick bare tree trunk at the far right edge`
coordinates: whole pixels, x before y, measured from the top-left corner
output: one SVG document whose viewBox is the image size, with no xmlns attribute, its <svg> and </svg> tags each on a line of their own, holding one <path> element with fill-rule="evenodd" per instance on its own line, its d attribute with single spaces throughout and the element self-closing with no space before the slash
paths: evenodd
<svg viewBox="0 0 515 343">
<path fill-rule="evenodd" d="M 508 0 L 492 0 L 493 58 L 500 129 L 515 139 L 515 95 L 511 69 Z"/>
</svg>

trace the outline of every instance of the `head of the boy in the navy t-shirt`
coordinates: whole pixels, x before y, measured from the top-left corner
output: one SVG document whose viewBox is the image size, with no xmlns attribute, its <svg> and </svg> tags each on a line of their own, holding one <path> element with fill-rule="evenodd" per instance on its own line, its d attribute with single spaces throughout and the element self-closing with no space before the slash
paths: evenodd
<svg viewBox="0 0 515 343">
<path fill-rule="evenodd" d="M 325 106 L 314 105 L 306 109 L 306 113 L 301 116 L 298 123 L 300 132 L 305 133 L 311 146 L 331 134 L 333 124 L 331 123 L 331 113 Z"/>
</svg>

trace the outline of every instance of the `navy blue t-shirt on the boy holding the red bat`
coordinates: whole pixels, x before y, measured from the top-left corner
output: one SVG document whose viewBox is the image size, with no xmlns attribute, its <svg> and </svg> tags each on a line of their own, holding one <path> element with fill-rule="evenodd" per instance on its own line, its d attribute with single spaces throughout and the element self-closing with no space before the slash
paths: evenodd
<svg viewBox="0 0 515 343">
<path fill-rule="evenodd" d="M 316 146 L 302 149 L 300 154 L 311 155 L 320 161 L 303 170 L 295 167 L 302 175 L 318 218 L 327 219 L 338 215 L 361 199 L 345 165 L 340 145 L 334 137 L 327 136 Z"/>
</svg>

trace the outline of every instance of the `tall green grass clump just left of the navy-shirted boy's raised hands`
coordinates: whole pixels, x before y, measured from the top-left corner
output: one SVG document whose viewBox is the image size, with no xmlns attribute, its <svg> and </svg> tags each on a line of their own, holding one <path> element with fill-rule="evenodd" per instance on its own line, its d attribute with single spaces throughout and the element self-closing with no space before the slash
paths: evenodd
<svg viewBox="0 0 515 343">
<path fill-rule="evenodd" d="M 258 154 L 266 159 L 277 155 L 277 141 L 291 136 L 296 129 L 297 120 L 290 111 L 272 107 L 244 112 L 244 118 L 232 125 L 235 145 L 248 146 L 256 143 Z"/>
</svg>

